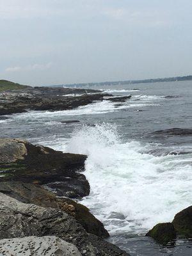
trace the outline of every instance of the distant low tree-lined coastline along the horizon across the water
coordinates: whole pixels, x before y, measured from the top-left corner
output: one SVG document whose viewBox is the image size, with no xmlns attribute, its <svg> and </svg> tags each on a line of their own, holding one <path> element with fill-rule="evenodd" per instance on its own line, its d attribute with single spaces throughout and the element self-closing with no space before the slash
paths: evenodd
<svg viewBox="0 0 192 256">
<path fill-rule="evenodd" d="M 142 80 L 125 80 L 125 81 L 105 81 L 97 83 L 74 83 L 74 84 L 54 84 L 51 87 L 95 87 L 95 86 L 110 86 L 110 85 L 124 85 L 124 84 L 145 84 L 145 83 L 158 83 L 158 82 L 177 82 L 177 81 L 191 81 L 192 76 L 177 76 L 177 77 L 163 77 L 154 79 Z"/>
</svg>

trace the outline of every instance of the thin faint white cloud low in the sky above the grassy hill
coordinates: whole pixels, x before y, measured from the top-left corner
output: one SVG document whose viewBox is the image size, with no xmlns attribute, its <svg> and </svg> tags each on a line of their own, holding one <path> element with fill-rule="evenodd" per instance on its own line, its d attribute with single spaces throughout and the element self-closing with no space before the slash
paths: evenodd
<svg viewBox="0 0 192 256">
<path fill-rule="evenodd" d="M 5 69 L 6 72 L 20 72 L 20 71 L 31 71 L 31 70 L 47 70 L 52 67 L 52 63 L 46 63 L 46 64 L 33 64 L 28 65 L 26 67 L 8 67 Z"/>
</svg>

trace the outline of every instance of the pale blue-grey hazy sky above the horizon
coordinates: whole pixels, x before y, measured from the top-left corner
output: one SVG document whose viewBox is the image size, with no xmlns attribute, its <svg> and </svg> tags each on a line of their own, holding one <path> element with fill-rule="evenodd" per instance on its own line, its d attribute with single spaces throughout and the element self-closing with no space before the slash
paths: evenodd
<svg viewBox="0 0 192 256">
<path fill-rule="evenodd" d="M 185 76 L 191 61 L 191 0 L 0 0 L 0 79 Z"/>
</svg>

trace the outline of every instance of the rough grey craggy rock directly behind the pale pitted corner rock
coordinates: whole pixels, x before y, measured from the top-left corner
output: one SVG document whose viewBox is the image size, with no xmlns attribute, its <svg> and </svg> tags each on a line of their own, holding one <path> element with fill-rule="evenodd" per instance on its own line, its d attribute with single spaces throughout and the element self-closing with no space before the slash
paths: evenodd
<svg viewBox="0 0 192 256">
<path fill-rule="evenodd" d="M 128 255 L 113 244 L 88 234 L 63 211 L 24 204 L 3 193 L 0 193 L 0 202 L 0 239 L 56 236 L 74 244 L 83 256 Z"/>
</svg>

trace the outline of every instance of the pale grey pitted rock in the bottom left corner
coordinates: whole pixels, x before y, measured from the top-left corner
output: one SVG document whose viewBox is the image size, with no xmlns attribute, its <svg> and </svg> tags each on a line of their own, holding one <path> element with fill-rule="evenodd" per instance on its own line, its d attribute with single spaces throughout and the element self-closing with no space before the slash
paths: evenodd
<svg viewBox="0 0 192 256">
<path fill-rule="evenodd" d="M 81 256 L 74 244 L 67 243 L 56 236 L 2 239 L 0 254 L 5 256 Z"/>
</svg>

